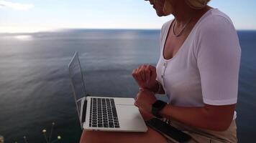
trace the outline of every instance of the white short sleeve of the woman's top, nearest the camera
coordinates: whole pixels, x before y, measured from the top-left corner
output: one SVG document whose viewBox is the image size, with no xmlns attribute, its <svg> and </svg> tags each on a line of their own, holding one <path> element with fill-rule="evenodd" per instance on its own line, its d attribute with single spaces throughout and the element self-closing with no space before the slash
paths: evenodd
<svg viewBox="0 0 256 143">
<path fill-rule="evenodd" d="M 201 23 L 196 58 L 205 104 L 237 103 L 241 49 L 232 21 L 211 16 Z"/>
</svg>

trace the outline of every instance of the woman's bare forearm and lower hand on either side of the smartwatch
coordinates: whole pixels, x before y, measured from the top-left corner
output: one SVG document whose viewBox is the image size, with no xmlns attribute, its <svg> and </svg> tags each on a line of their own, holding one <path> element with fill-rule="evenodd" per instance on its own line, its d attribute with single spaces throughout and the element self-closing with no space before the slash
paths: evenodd
<svg viewBox="0 0 256 143">
<path fill-rule="evenodd" d="M 141 111 L 151 114 L 152 104 L 157 101 L 150 91 L 140 91 L 134 103 Z M 209 105 L 204 107 L 177 107 L 166 105 L 159 114 L 168 119 L 174 119 L 189 126 L 214 131 L 227 130 L 232 122 L 236 104 Z"/>
</svg>

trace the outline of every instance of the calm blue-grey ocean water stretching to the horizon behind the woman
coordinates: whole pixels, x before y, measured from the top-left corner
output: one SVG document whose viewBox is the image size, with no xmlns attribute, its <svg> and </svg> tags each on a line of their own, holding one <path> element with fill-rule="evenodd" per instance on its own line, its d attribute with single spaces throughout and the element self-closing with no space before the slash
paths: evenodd
<svg viewBox="0 0 256 143">
<path fill-rule="evenodd" d="M 239 142 L 256 134 L 256 31 L 238 31 L 242 47 L 237 104 Z M 68 29 L 35 34 L 0 34 L 0 135 L 5 142 L 79 142 L 81 128 L 68 78 L 68 62 L 79 52 L 86 91 L 135 97 L 131 76 L 140 64 L 157 63 L 160 30 Z M 166 99 L 165 97 L 159 97 Z"/>
</svg>

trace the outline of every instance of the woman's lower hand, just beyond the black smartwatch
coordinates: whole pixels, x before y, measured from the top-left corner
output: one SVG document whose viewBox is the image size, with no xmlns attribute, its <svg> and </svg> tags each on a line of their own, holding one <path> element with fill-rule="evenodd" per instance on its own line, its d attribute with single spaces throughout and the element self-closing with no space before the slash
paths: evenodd
<svg viewBox="0 0 256 143">
<path fill-rule="evenodd" d="M 155 94 L 148 90 L 144 90 L 137 94 L 134 105 L 142 110 L 142 112 L 145 112 L 145 114 L 151 114 L 152 104 L 156 101 L 157 99 L 155 98 Z"/>
</svg>

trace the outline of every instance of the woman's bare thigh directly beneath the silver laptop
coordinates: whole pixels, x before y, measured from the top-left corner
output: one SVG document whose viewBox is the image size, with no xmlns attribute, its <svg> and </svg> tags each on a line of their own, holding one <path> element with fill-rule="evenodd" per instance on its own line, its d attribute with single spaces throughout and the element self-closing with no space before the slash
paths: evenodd
<svg viewBox="0 0 256 143">
<path fill-rule="evenodd" d="M 83 130 L 81 136 L 81 143 L 167 143 L 165 137 L 148 127 L 147 132 L 99 132 L 99 131 L 86 131 Z"/>
</svg>

